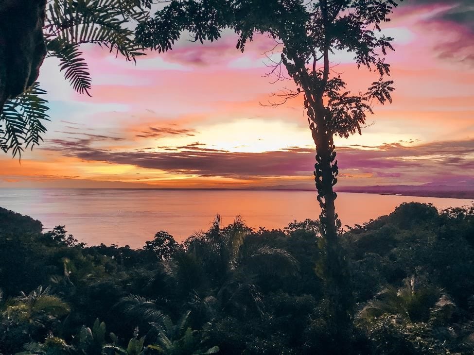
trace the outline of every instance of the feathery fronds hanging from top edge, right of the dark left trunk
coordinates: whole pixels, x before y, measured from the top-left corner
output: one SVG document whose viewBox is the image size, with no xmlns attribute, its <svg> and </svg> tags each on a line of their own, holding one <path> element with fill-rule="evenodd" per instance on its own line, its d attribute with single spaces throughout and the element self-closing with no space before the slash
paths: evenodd
<svg viewBox="0 0 474 355">
<path fill-rule="evenodd" d="M 90 74 L 79 45 L 98 44 L 135 61 L 143 52 L 134 42 L 133 31 L 126 26 L 144 17 L 145 12 L 136 6 L 136 1 L 54 1 L 48 6 L 45 24 L 48 55 L 60 60 L 60 69 L 65 71 L 74 90 L 89 95 Z"/>
</svg>

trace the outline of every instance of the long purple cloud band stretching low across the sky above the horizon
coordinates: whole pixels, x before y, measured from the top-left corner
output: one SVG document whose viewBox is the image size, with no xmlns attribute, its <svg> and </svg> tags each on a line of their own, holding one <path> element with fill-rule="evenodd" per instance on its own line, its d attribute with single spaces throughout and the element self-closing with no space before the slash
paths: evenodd
<svg viewBox="0 0 474 355">
<path fill-rule="evenodd" d="M 274 152 L 227 152 L 205 148 L 196 142 L 181 147 L 160 147 L 161 152 L 152 152 L 151 147 L 126 152 L 90 147 L 88 139 L 52 142 L 54 147 L 43 149 L 61 151 L 86 161 L 129 164 L 202 177 L 310 176 L 314 169 L 314 150 L 299 147 Z M 465 179 L 468 171 L 474 171 L 474 140 L 412 147 L 394 143 L 373 148 L 376 149 L 338 148 L 336 159 L 341 175 L 357 177 L 369 173 L 374 178 L 388 179 L 388 183 L 400 180 L 429 183 Z"/>
</svg>

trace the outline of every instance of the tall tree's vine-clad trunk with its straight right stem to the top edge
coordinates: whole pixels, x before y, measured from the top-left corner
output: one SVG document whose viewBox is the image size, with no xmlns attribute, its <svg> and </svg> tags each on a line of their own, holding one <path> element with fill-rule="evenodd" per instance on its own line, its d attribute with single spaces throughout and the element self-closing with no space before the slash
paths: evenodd
<svg viewBox="0 0 474 355">
<path fill-rule="evenodd" d="M 334 131 L 330 123 L 332 117 L 329 110 L 326 109 L 323 102 L 324 93 L 329 81 L 330 63 L 329 51 L 331 38 L 328 36 L 331 22 L 328 12 L 327 0 L 321 1 L 321 14 L 325 29 L 325 44 L 323 47 L 324 70 L 322 81 L 319 85 L 313 85 L 314 95 L 313 118 L 310 116 L 310 128 L 313 139 L 316 144 L 316 164 L 315 164 L 315 182 L 317 189 L 317 200 L 321 207 L 319 220 L 321 224 L 321 235 L 324 238 L 325 252 L 325 274 L 327 277 L 327 287 L 332 304 L 332 315 L 334 337 L 336 344 L 347 344 L 347 336 L 351 326 L 351 282 L 349 269 L 344 258 L 344 253 L 339 245 L 338 230 L 341 227 L 341 221 L 335 213 L 334 201 L 337 194 L 333 186 L 337 183 L 337 160 L 334 146 Z M 340 349 L 342 350 L 342 349 Z"/>
</svg>

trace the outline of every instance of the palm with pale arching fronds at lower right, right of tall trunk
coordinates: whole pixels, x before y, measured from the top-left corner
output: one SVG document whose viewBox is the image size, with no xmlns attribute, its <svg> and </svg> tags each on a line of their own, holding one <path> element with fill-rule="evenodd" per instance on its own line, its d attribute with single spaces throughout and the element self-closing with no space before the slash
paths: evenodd
<svg viewBox="0 0 474 355">
<path fill-rule="evenodd" d="M 359 312 L 357 325 L 372 340 L 374 354 L 451 354 L 441 338 L 448 334 L 444 340 L 453 338 L 454 329 L 447 321 L 454 309 L 442 289 L 417 287 L 412 276 L 403 287 L 387 287 L 369 301 Z M 444 331 L 434 332 L 435 327 Z"/>
</svg>

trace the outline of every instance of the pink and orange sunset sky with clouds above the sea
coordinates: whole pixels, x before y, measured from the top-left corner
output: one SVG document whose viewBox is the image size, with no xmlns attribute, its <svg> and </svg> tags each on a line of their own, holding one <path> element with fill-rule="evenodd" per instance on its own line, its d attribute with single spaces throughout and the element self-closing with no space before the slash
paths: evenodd
<svg viewBox="0 0 474 355">
<path fill-rule="evenodd" d="M 472 0 L 395 10 L 384 28 L 395 37 L 393 104 L 376 106 L 362 135 L 336 139 L 338 186 L 474 185 L 473 17 Z M 74 93 L 47 59 L 39 78 L 51 107 L 45 142 L 21 164 L 1 155 L 0 187 L 312 188 L 302 101 L 259 104 L 282 87 L 265 77 L 272 40 L 256 37 L 242 54 L 236 38 L 184 38 L 136 65 L 85 47 L 92 98 Z M 333 64 L 351 89 L 377 79 L 347 53 Z"/>
</svg>

